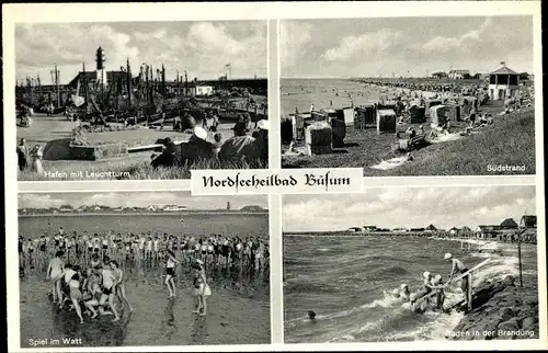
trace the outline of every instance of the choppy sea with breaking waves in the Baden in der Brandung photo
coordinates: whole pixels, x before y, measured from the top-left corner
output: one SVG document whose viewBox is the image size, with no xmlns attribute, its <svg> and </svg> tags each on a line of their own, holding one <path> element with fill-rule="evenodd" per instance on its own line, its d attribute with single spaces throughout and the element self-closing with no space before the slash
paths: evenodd
<svg viewBox="0 0 548 353">
<path fill-rule="evenodd" d="M 419 289 L 422 274 L 448 280 L 446 252 L 469 269 L 491 257 L 475 273 L 473 284 L 518 275 L 516 244 L 495 244 L 503 255 L 479 252 L 488 244 L 408 236 L 284 235 L 284 330 L 287 343 L 445 340 L 463 314 L 431 310 L 413 314 L 391 293 L 403 283 Z M 493 244 L 489 244 L 493 246 Z M 524 282 L 537 281 L 535 246 L 523 246 Z M 446 291 L 446 304 L 463 298 Z M 313 310 L 316 320 L 308 320 Z"/>
</svg>

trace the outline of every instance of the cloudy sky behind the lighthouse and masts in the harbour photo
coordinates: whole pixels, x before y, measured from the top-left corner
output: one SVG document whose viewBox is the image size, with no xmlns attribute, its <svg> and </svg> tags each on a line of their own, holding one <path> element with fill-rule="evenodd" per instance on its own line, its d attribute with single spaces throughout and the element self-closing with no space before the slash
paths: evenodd
<svg viewBox="0 0 548 353">
<path fill-rule="evenodd" d="M 59 83 L 82 69 L 94 70 L 95 52 L 105 52 L 106 70 L 119 70 L 129 58 L 132 72 L 142 62 L 165 66 L 168 80 L 176 70 L 189 80 L 217 79 L 230 64 L 231 78 L 266 77 L 266 22 L 107 22 L 24 23 L 15 26 L 16 79 L 39 75 L 52 84 L 57 64 Z"/>
</svg>

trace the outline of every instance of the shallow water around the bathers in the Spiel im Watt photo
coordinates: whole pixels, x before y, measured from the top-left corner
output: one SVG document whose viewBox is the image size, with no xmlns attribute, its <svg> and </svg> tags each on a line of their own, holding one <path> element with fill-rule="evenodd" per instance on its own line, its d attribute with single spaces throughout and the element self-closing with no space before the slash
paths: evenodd
<svg viewBox="0 0 548 353">
<path fill-rule="evenodd" d="M 21 217 L 20 232 L 35 238 L 64 226 L 67 231 L 147 231 L 155 230 L 194 235 L 269 237 L 267 215 L 113 215 Z M 129 270 L 128 270 L 129 271 Z M 261 344 L 270 343 L 269 272 L 253 273 L 242 269 L 212 269 L 207 273 L 213 295 L 206 317 L 192 312 L 195 308 L 192 271 L 185 265 L 178 276 L 178 297 L 168 298 L 158 269 L 132 273 L 126 295 L 134 311 L 125 308 L 119 322 L 110 317 L 93 321 L 84 317 L 80 324 L 76 312 L 59 311 L 48 300 L 50 288 L 44 274 L 33 273 L 20 282 L 21 345 L 31 340 L 71 338 L 82 344 L 71 346 L 112 345 L 186 345 L 186 344 Z M 62 342 L 62 341 L 60 341 Z M 55 343 L 55 341 L 54 341 Z M 43 345 L 38 345 L 43 348 Z"/>
</svg>

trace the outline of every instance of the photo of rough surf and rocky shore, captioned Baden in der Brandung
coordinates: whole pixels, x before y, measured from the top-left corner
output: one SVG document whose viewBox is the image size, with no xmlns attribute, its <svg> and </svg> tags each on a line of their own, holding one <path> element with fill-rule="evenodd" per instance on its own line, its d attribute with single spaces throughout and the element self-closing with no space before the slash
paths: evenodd
<svg viewBox="0 0 548 353">
<path fill-rule="evenodd" d="M 534 185 L 285 195 L 285 343 L 538 339 L 537 212 Z"/>
</svg>

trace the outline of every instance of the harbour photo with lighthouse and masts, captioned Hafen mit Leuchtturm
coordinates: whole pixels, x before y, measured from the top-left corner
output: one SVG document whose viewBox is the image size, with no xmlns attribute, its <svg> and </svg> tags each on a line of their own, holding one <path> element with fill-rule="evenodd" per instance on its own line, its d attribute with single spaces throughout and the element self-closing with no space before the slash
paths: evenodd
<svg viewBox="0 0 548 353">
<path fill-rule="evenodd" d="M 265 21 L 15 24 L 20 181 L 267 168 Z"/>
</svg>

